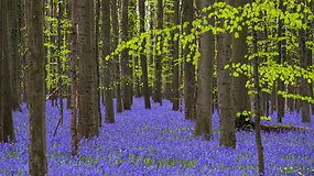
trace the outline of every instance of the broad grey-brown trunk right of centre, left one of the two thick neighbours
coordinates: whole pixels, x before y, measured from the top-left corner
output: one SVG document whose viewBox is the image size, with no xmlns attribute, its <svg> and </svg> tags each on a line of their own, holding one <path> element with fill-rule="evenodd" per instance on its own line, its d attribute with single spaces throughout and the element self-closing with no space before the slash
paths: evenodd
<svg viewBox="0 0 314 176">
<path fill-rule="evenodd" d="M 201 1 L 201 9 L 213 4 L 207 0 Z M 205 13 L 207 16 L 209 12 Z M 212 18 L 209 24 L 215 25 Z M 213 74 L 215 57 L 215 36 L 212 31 L 201 34 L 201 58 L 198 61 L 198 89 L 197 89 L 197 107 L 196 107 L 196 125 L 195 135 L 204 135 L 209 140 L 213 135 Z"/>
</svg>

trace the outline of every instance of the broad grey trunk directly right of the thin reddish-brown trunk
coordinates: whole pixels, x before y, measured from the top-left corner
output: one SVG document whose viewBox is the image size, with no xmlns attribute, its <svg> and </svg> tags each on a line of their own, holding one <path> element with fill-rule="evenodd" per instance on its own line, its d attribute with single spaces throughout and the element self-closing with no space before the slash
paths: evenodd
<svg viewBox="0 0 314 176">
<path fill-rule="evenodd" d="M 79 0 L 78 38 L 79 38 L 79 86 L 78 86 L 78 134 L 89 138 L 99 134 L 99 111 L 96 106 L 97 63 L 94 48 L 94 1 Z"/>
</svg>

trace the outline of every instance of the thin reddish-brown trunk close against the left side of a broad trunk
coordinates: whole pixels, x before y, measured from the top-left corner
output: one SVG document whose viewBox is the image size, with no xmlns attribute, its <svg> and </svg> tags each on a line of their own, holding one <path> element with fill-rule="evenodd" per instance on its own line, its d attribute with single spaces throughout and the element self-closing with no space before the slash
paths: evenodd
<svg viewBox="0 0 314 176">
<path fill-rule="evenodd" d="M 71 43 L 71 148 L 72 155 L 77 155 L 78 152 L 78 97 L 77 97 L 77 48 L 78 48 L 78 0 L 72 0 L 72 43 Z"/>
</svg>

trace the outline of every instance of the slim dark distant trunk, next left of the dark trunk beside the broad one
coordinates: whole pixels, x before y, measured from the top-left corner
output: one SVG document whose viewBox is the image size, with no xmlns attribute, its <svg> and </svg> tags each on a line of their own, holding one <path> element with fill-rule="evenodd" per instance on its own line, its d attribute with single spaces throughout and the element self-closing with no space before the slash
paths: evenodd
<svg viewBox="0 0 314 176">
<path fill-rule="evenodd" d="M 174 1 L 174 25 L 180 24 L 180 0 Z M 174 34 L 180 35 L 180 30 L 174 30 Z M 173 41 L 173 105 L 172 105 L 172 110 L 177 111 L 178 110 L 178 101 L 180 101 L 180 92 L 178 92 L 178 67 L 180 67 L 180 62 L 178 62 L 178 36 L 176 41 Z"/>
</svg>

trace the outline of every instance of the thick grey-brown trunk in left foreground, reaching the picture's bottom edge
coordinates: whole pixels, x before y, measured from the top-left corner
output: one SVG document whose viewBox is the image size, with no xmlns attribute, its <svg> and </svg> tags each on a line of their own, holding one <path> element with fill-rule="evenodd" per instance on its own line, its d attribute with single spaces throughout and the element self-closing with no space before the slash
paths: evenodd
<svg viewBox="0 0 314 176">
<path fill-rule="evenodd" d="M 30 174 L 45 175 L 46 124 L 45 124 L 45 55 L 43 1 L 29 0 L 26 3 L 28 26 L 28 106 L 30 110 Z"/>
</svg>

